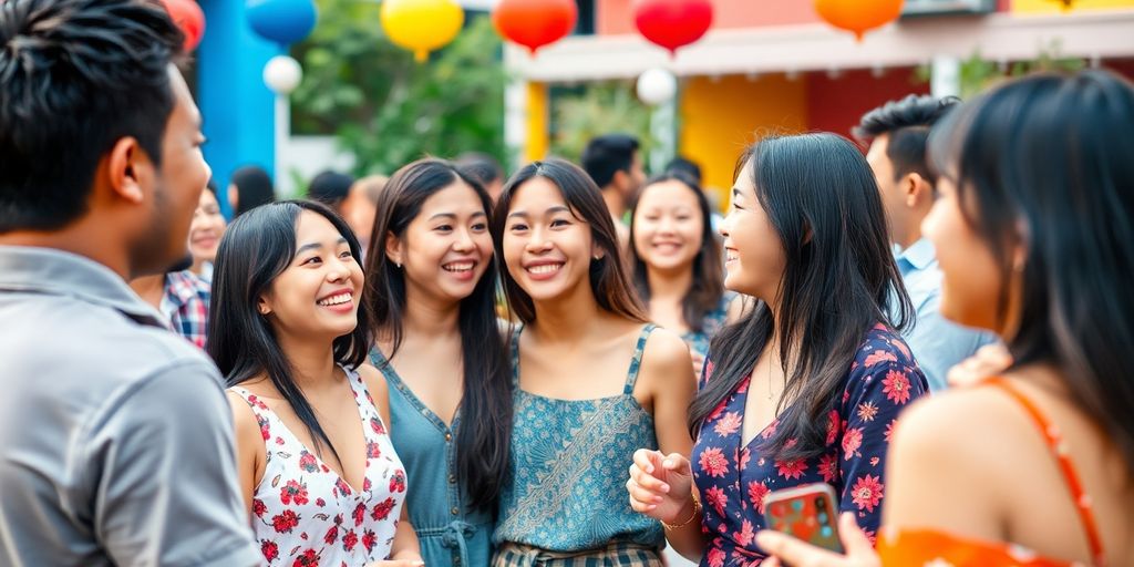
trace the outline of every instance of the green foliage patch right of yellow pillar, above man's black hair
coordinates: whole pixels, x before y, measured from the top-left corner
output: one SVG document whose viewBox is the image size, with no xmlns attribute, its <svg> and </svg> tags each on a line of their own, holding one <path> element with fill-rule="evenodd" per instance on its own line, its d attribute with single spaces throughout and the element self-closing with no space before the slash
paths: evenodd
<svg viewBox="0 0 1134 567">
<path fill-rule="evenodd" d="M 586 143 L 602 134 L 629 134 L 642 142 L 643 156 L 653 146 L 650 109 L 634 94 L 631 82 L 593 83 L 553 91 L 551 153 L 578 162 Z"/>
</svg>

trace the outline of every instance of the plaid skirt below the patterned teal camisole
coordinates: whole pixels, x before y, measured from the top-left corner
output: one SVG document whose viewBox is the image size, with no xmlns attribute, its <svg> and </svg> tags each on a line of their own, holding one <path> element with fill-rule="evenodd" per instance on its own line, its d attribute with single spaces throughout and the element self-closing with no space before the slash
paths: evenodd
<svg viewBox="0 0 1134 567">
<path fill-rule="evenodd" d="M 661 550 L 631 542 L 573 552 L 508 542 L 497 548 L 492 567 L 666 567 L 666 562 Z"/>
</svg>

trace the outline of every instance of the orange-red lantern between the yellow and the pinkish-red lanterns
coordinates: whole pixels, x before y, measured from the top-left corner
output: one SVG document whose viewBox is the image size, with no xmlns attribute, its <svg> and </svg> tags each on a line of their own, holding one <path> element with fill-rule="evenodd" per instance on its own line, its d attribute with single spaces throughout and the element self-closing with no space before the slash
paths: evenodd
<svg viewBox="0 0 1134 567">
<path fill-rule="evenodd" d="M 555 43 L 575 29 L 575 0 L 502 0 L 492 10 L 492 23 L 503 39 L 535 50 Z"/>
</svg>

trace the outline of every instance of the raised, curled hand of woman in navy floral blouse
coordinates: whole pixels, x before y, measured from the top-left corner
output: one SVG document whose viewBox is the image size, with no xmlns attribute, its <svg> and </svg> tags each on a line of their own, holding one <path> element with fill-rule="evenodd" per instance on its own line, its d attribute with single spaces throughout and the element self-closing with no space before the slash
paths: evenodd
<svg viewBox="0 0 1134 567">
<path fill-rule="evenodd" d="M 631 508 L 666 524 L 678 524 L 693 514 L 693 471 L 680 454 L 638 449 L 626 481 Z"/>
</svg>

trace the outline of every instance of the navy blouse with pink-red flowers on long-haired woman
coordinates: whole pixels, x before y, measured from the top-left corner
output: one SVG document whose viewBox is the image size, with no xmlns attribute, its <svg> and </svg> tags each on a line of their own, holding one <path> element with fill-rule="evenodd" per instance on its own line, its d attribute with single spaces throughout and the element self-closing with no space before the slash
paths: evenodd
<svg viewBox="0 0 1134 567">
<path fill-rule="evenodd" d="M 711 376 L 710 364 L 702 388 Z M 761 442 L 775 434 L 776 421 L 742 447 L 750 378 L 705 418 L 693 447 L 693 477 L 709 535 L 702 567 L 760 565 L 764 555 L 755 533 L 764 527 L 764 496 L 815 482 L 830 484 L 840 510 L 855 513 L 873 540 L 882 515 L 886 449 L 895 420 L 929 391 L 909 347 L 882 325 L 866 333 L 848 369 L 841 400 L 828 415 L 827 448 L 811 459 L 765 458 Z"/>
</svg>

